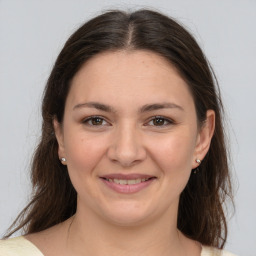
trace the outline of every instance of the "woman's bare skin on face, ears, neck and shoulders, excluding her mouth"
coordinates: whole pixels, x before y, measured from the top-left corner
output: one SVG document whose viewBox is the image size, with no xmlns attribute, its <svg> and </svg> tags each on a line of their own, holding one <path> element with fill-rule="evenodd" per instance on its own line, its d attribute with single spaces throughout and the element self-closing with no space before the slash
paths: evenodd
<svg viewBox="0 0 256 256">
<path fill-rule="evenodd" d="M 27 237 L 45 255 L 200 255 L 177 230 L 177 211 L 209 149 L 214 112 L 198 126 L 188 86 L 169 62 L 149 51 L 93 57 L 73 78 L 54 127 L 78 201 L 72 219 Z M 100 178 L 113 173 L 155 179 L 123 194 Z"/>
</svg>

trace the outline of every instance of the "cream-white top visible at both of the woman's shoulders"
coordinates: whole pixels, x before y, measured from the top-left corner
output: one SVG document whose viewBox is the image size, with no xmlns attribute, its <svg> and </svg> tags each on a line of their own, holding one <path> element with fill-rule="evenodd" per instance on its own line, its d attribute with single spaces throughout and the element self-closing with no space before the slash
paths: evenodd
<svg viewBox="0 0 256 256">
<path fill-rule="evenodd" d="M 39 249 L 23 236 L 0 240 L 0 256 L 44 256 Z M 212 247 L 202 246 L 201 256 L 235 256 Z"/>
</svg>

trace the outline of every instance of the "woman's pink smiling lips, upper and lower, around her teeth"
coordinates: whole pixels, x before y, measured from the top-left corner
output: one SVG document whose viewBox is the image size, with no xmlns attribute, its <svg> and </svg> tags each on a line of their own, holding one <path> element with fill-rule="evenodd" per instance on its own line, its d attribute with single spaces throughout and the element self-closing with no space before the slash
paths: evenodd
<svg viewBox="0 0 256 256">
<path fill-rule="evenodd" d="M 111 190 L 114 190 L 117 193 L 121 194 L 133 194 L 137 193 L 146 187 L 150 186 L 155 180 L 156 177 L 152 175 L 145 174 L 108 174 L 101 176 L 100 179 L 102 182 Z M 122 180 L 135 180 L 135 179 L 147 179 L 137 184 L 117 184 L 115 182 L 109 181 L 109 179 L 122 179 Z"/>
</svg>

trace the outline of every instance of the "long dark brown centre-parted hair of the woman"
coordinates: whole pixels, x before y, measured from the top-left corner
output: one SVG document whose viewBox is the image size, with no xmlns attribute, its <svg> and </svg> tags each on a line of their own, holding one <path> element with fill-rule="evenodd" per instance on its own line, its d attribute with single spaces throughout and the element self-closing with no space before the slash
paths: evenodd
<svg viewBox="0 0 256 256">
<path fill-rule="evenodd" d="M 80 67 L 98 53 L 120 49 L 149 50 L 174 65 L 193 95 L 199 124 L 208 109 L 215 111 L 209 152 L 180 196 L 178 228 L 204 245 L 222 248 L 227 237 L 223 202 L 232 196 L 219 87 L 190 33 L 173 19 L 150 10 L 108 11 L 82 25 L 66 42 L 44 92 L 42 137 L 31 173 L 34 194 L 6 237 L 22 228 L 25 234 L 44 230 L 76 212 L 77 194 L 66 166 L 59 161 L 53 118 L 62 122 L 71 80 Z"/>
</svg>

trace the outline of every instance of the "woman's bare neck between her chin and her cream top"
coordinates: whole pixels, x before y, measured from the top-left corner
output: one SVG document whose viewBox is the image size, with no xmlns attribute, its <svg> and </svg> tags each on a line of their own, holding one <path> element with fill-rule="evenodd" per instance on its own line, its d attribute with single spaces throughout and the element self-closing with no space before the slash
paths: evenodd
<svg viewBox="0 0 256 256">
<path fill-rule="evenodd" d="M 177 230 L 176 220 L 176 214 L 166 214 L 147 223 L 120 226 L 78 209 L 70 219 L 67 251 L 81 256 L 185 255 L 185 237 Z"/>
</svg>

